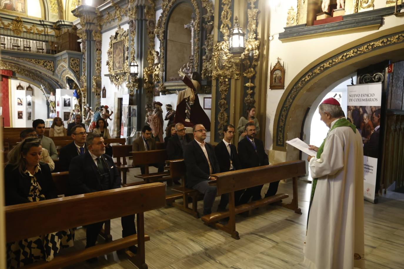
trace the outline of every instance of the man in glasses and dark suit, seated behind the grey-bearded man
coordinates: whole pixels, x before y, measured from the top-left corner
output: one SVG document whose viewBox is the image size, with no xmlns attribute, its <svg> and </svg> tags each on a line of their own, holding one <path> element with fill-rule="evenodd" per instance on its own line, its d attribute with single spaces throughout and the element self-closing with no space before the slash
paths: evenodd
<svg viewBox="0 0 404 269">
<path fill-rule="evenodd" d="M 72 128 L 73 142 L 65 145 L 59 152 L 59 164 L 62 171 L 68 171 L 70 161 L 79 155 L 83 155 L 87 151 L 86 147 L 86 129 L 81 125 Z"/>
</svg>

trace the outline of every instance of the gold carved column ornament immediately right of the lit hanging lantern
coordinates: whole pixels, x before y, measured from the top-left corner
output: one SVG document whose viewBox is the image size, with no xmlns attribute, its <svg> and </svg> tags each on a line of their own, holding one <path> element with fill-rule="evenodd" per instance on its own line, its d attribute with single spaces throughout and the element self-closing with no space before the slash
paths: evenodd
<svg viewBox="0 0 404 269">
<path fill-rule="evenodd" d="M 257 18 L 258 18 L 258 8 L 255 8 L 254 4 L 256 0 L 248 0 L 251 3 L 250 9 L 248 9 L 248 39 L 246 40 L 246 49 L 242 54 L 242 63 L 244 65 L 243 76 L 248 78 L 248 82 L 244 85 L 248 87 L 246 90 L 247 97 L 244 98 L 244 103 L 247 106 L 254 105 L 255 100 L 251 97 L 253 90 L 251 89 L 255 85 L 251 82 L 251 78 L 255 75 L 255 67 L 257 67 L 259 62 L 259 46 L 260 42 L 257 40 Z M 252 51 L 252 59 L 250 57 L 250 51 Z M 252 60 L 252 61 L 251 61 Z"/>
</svg>

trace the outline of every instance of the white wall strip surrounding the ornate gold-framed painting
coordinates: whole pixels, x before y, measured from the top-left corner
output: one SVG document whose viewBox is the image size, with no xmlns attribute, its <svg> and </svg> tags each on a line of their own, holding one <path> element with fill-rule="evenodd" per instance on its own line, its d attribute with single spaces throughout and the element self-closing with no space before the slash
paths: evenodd
<svg viewBox="0 0 404 269">
<path fill-rule="evenodd" d="M 128 24 L 121 25 L 121 28 L 124 29 L 125 31 L 129 28 Z M 116 96 L 122 97 L 122 94 L 127 94 L 128 89 L 126 88 L 126 83 L 124 83 L 122 86 L 116 87 L 114 84 L 112 84 L 111 80 L 109 80 L 109 77 L 104 76 L 105 74 L 109 74 L 108 71 L 108 66 L 107 66 L 107 51 L 109 49 L 109 37 L 115 34 L 117 28 L 114 28 L 112 30 L 109 30 L 105 33 L 102 34 L 102 45 L 101 45 L 101 89 L 103 86 L 105 86 L 105 89 L 107 90 L 106 93 L 106 98 L 101 98 L 101 105 L 107 105 L 109 107 L 109 111 L 118 111 L 118 108 L 115 107 L 115 98 Z M 95 111 L 95 107 L 93 107 L 93 111 Z M 115 133 L 114 130 L 114 115 L 111 116 L 112 120 L 108 120 L 108 128 L 109 132 Z"/>
</svg>

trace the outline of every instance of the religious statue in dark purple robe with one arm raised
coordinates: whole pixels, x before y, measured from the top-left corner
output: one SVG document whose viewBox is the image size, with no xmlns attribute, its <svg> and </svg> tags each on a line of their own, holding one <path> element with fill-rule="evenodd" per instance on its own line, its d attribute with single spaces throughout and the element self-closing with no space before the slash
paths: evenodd
<svg viewBox="0 0 404 269">
<path fill-rule="evenodd" d="M 177 111 L 174 122 L 181 122 L 185 127 L 203 124 L 209 131 L 210 120 L 202 109 L 198 98 L 198 90 L 200 90 L 201 85 L 199 73 L 193 72 L 192 79 L 185 76 L 182 71 L 178 71 L 178 74 L 183 77 L 182 81 L 187 85 L 187 88 L 178 92 Z"/>
</svg>

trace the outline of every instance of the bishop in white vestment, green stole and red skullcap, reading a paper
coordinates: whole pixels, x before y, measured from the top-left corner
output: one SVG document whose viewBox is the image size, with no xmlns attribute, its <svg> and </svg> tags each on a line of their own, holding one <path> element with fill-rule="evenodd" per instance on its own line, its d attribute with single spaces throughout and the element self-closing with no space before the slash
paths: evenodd
<svg viewBox="0 0 404 269">
<path fill-rule="evenodd" d="M 362 137 L 337 100 L 326 99 L 319 113 L 330 130 L 307 158 L 314 181 L 304 261 L 312 269 L 364 269 Z"/>
</svg>

